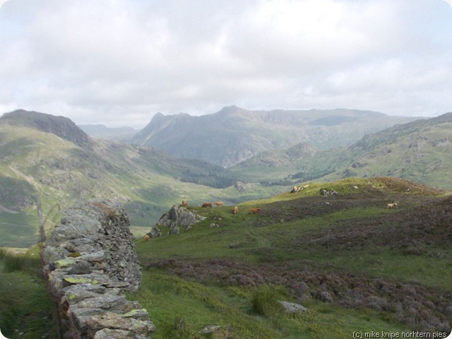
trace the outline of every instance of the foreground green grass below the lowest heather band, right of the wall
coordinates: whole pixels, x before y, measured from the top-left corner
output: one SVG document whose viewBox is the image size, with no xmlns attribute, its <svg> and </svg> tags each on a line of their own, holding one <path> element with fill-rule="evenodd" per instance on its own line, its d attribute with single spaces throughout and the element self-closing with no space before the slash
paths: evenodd
<svg viewBox="0 0 452 339">
<path fill-rule="evenodd" d="M 285 287 L 218 287 L 169 275 L 158 268 L 143 270 L 140 292 L 129 295 L 148 309 L 163 338 L 350 338 L 353 331 L 408 331 L 397 321 L 369 309 L 343 309 L 316 300 L 306 312 L 285 314 L 277 299 L 288 299 Z M 290 299 L 289 299 L 290 300 Z M 201 330 L 218 325 L 204 335 Z"/>
</svg>

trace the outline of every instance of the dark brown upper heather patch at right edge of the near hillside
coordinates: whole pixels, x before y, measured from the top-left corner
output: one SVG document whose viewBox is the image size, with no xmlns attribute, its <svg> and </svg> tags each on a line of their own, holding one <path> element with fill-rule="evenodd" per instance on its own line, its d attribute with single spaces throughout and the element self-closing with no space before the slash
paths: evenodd
<svg viewBox="0 0 452 339">
<path fill-rule="evenodd" d="M 408 254 L 422 254 L 425 245 L 452 244 L 452 196 L 417 197 L 410 204 L 409 208 L 379 217 L 337 220 L 324 231 L 293 239 L 288 246 L 318 244 L 333 249 L 387 246 L 405 249 Z"/>
</svg>

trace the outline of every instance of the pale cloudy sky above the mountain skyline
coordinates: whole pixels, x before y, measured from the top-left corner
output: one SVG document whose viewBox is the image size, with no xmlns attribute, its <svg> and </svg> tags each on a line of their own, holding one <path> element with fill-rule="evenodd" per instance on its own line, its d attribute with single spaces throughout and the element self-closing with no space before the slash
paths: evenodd
<svg viewBox="0 0 452 339">
<path fill-rule="evenodd" d="M 452 112 L 444 0 L 0 0 L 0 114 Z"/>
</svg>

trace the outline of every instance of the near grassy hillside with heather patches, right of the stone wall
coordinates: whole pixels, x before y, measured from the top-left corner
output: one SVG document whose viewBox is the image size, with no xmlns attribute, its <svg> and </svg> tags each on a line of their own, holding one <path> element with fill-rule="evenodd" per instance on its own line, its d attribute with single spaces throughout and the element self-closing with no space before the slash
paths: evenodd
<svg viewBox="0 0 452 339">
<path fill-rule="evenodd" d="M 324 198 L 322 187 L 339 195 Z M 398 208 L 386 208 L 393 201 Z M 257 205 L 262 213 L 249 215 Z M 147 268 L 135 297 L 156 323 L 154 338 L 450 331 L 452 202 L 440 191 L 392 178 L 346 179 L 242 203 L 238 215 L 229 207 L 193 209 L 208 218 L 177 236 L 138 240 Z M 256 292 L 268 295 L 260 312 Z M 274 299 L 309 311 L 283 315 Z M 222 328 L 201 335 L 208 324 Z"/>
</svg>

